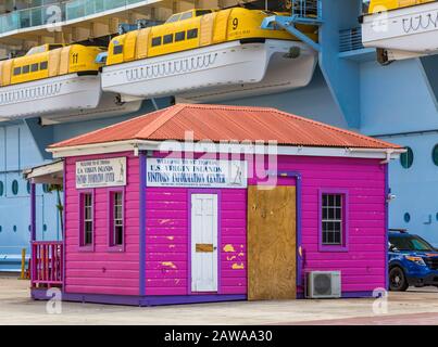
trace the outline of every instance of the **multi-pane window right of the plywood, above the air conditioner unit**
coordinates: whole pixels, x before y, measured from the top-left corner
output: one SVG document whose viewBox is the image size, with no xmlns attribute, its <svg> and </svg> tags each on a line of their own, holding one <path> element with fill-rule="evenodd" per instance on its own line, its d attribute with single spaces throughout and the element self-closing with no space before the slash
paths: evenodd
<svg viewBox="0 0 438 347">
<path fill-rule="evenodd" d="M 343 240 L 343 198 L 342 194 L 322 196 L 322 244 L 342 245 Z"/>
</svg>

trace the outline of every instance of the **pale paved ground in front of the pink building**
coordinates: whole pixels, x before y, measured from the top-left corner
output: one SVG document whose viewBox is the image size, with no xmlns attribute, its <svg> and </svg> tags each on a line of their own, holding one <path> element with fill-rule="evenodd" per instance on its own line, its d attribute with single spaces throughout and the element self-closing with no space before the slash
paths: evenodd
<svg viewBox="0 0 438 347">
<path fill-rule="evenodd" d="M 438 291 L 391 293 L 388 312 L 375 314 L 374 299 L 222 303 L 123 307 L 63 303 L 49 314 L 47 303 L 29 299 L 28 281 L 0 275 L 0 325 L 4 324 L 436 324 Z"/>
</svg>

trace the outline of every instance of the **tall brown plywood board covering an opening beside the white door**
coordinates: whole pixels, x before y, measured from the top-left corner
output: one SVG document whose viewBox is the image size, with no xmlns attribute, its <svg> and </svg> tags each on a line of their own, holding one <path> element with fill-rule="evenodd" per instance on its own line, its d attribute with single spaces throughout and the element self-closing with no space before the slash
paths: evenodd
<svg viewBox="0 0 438 347">
<path fill-rule="evenodd" d="M 296 187 L 248 189 L 248 299 L 297 297 Z"/>
</svg>

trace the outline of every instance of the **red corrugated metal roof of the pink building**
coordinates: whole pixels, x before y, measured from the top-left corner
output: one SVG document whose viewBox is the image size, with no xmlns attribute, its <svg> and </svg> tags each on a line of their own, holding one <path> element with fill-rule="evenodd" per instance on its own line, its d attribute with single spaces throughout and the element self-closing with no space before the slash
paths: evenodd
<svg viewBox="0 0 438 347">
<path fill-rule="evenodd" d="M 177 104 L 51 145 L 51 149 L 125 140 L 277 141 L 283 145 L 401 149 L 353 131 L 275 108 Z"/>
</svg>

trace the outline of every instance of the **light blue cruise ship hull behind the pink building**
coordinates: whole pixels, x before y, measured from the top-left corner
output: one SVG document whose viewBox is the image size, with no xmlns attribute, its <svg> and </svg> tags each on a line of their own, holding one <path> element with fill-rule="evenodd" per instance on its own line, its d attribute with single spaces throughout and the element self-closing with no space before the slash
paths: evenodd
<svg viewBox="0 0 438 347">
<path fill-rule="evenodd" d="M 380 66 L 374 50 L 353 48 L 339 53 L 339 30 L 358 26 L 361 1 L 322 0 L 320 67 L 311 83 L 281 94 L 249 98 L 229 104 L 270 106 L 306 116 L 413 150 L 403 168 L 390 164 L 389 227 L 405 228 L 438 246 L 438 59 L 415 59 Z M 330 7 L 329 11 L 324 8 Z M 160 106 L 170 100 L 160 100 Z M 140 112 L 124 117 L 40 127 L 37 119 L 0 124 L 0 271 L 20 269 L 22 248 L 29 242 L 29 193 L 22 170 L 49 160 L 45 147 L 63 139 L 153 111 L 145 101 Z M 14 194 L 13 182 L 18 183 Z M 0 183 L 1 185 L 1 183 Z M 1 188 L 1 187 L 0 187 Z M 1 193 L 1 190 L 0 190 Z M 57 195 L 37 189 L 37 239 L 60 240 Z"/>
</svg>

